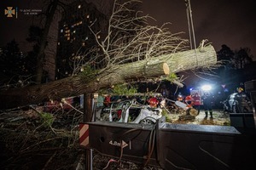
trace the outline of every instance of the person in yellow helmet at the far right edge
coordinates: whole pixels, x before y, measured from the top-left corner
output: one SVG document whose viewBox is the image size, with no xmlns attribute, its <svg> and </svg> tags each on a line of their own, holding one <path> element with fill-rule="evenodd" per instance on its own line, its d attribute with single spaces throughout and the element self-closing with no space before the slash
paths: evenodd
<svg viewBox="0 0 256 170">
<path fill-rule="evenodd" d="M 236 108 L 235 113 L 246 113 L 252 111 L 250 106 L 248 105 L 250 99 L 247 97 L 247 94 L 243 92 L 243 88 L 236 88 L 237 93 L 235 95 Z"/>
</svg>

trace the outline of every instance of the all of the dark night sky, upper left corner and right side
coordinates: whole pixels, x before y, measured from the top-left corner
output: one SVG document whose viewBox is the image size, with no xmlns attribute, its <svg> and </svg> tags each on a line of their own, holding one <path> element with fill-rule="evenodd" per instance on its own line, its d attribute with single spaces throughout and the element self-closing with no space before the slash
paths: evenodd
<svg viewBox="0 0 256 170">
<path fill-rule="evenodd" d="M 6 7 L 43 9 L 40 0 L 0 1 L 0 47 L 15 38 L 24 51 L 28 49 L 26 37 L 32 16 L 18 13 L 17 19 L 4 15 Z M 93 2 L 93 1 L 92 1 Z M 102 1 L 102 2 L 107 2 Z M 218 51 L 222 44 L 232 50 L 251 48 L 256 59 L 256 4 L 254 0 L 190 0 L 195 27 L 197 46 L 202 39 L 208 39 Z M 108 3 L 108 2 L 107 2 Z M 170 22 L 170 31 L 183 31 L 183 38 L 189 38 L 189 27 L 184 0 L 143 0 L 143 13 L 157 21 L 152 25 L 161 26 Z"/>
</svg>

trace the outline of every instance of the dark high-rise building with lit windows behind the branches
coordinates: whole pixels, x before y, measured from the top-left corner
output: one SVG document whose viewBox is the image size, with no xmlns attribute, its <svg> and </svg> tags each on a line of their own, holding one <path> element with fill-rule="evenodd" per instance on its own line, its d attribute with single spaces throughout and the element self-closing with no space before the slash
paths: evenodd
<svg viewBox="0 0 256 170">
<path fill-rule="evenodd" d="M 93 3 L 78 0 L 67 5 L 59 22 L 55 79 L 77 74 L 79 65 L 90 60 L 88 51 L 97 46 L 96 38 L 101 41 L 106 35 L 107 25 L 106 15 Z M 96 37 L 90 28 L 99 32 Z"/>
</svg>

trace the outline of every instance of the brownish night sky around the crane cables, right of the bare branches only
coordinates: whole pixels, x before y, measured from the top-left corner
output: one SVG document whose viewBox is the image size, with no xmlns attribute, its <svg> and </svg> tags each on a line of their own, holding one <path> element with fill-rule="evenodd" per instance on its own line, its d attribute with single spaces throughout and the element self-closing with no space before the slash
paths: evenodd
<svg viewBox="0 0 256 170">
<path fill-rule="evenodd" d="M 158 22 L 171 22 L 171 31 L 184 31 L 189 38 L 183 0 L 147 0 L 143 11 Z M 156 3 L 157 2 L 157 3 Z M 198 45 L 208 39 L 218 51 L 226 44 L 232 50 L 251 48 L 256 58 L 256 3 L 254 0 L 190 0 Z"/>
</svg>

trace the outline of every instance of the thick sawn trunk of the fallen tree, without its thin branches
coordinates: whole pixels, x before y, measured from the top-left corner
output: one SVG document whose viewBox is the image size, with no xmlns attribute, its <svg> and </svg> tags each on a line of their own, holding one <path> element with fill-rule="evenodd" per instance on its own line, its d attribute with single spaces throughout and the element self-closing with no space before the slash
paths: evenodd
<svg viewBox="0 0 256 170">
<path fill-rule="evenodd" d="M 209 67 L 216 63 L 217 55 L 211 45 L 201 50 L 193 49 L 176 54 L 166 54 L 125 65 L 115 65 L 108 72 L 98 75 L 92 82 L 84 82 L 82 77 L 74 76 L 42 85 L 1 91 L 0 109 L 38 104 L 49 101 L 49 99 L 90 94 L 101 88 L 108 88 L 123 82 L 136 82 L 139 79 L 160 77 L 169 72 L 177 73 Z"/>
</svg>

